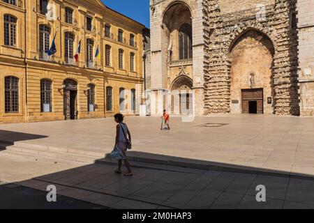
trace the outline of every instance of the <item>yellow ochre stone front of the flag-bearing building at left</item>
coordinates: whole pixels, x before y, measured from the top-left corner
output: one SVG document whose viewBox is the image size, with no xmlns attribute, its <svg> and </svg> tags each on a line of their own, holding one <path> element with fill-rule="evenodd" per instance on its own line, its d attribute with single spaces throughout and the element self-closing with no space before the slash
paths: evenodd
<svg viewBox="0 0 314 223">
<path fill-rule="evenodd" d="M 75 97 L 73 100 L 75 106 L 69 105 L 72 106 L 71 109 L 75 107 L 74 118 L 104 118 L 117 112 L 126 115 L 137 114 L 144 84 L 142 71 L 144 25 L 107 8 L 99 0 L 48 0 L 45 12 L 43 12 L 45 2 L 40 1 L 15 0 L 6 3 L 0 0 L 0 123 L 73 119 L 67 118 L 66 115 L 66 79 L 71 79 L 77 84 L 76 96 L 69 93 L 70 97 Z M 73 12 L 71 22 L 66 21 L 68 9 Z M 16 18 L 16 43 L 13 46 L 5 44 L 5 15 Z M 87 30 L 87 17 L 92 19 L 90 31 Z M 40 54 L 42 44 L 40 25 L 49 26 L 49 47 L 56 33 L 57 52 L 54 56 Z M 106 25 L 110 26 L 110 35 L 107 37 Z M 123 31 L 120 41 L 119 30 Z M 73 56 L 81 40 L 77 63 L 73 56 L 68 57 L 72 59 L 70 61 L 66 58 L 66 32 L 74 37 L 73 47 L 70 48 Z M 130 36 L 134 36 L 134 41 L 130 41 Z M 87 39 L 94 41 L 91 52 L 94 60 L 91 63 L 87 63 Z M 106 66 L 108 65 L 105 56 L 106 45 L 110 46 L 109 66 Z M 97 47 L 100 56 L 95 59 Z M 123 51 L 123 68 L 119 68 L 119 50 Z M 133 71 L 130 65 L 131 54 L 134 55 Z M 5 109 L 5 78 L 9 76 L 18 78 L 18 110 L 12 113 L 6 112 Z M 50 112 L 43 112 L 40 96 L 42 79 L 49 79 L 51 82 Z M 95 87 L 93 112 L 89 112 L 87 99 L 89 84 Z M 112 109 L 109 111 L 106 98 L 108 87 L 112 88 Z M 125 89 L 122 99 L 121 88 Z M 131 90 L 135 91 L 135 97 Z"/>
</svg>

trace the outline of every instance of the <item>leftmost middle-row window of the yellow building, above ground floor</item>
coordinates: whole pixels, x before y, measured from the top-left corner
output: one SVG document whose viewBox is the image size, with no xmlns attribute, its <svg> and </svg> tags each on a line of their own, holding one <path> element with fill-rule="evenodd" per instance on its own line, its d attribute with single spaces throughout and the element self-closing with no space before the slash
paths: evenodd
<svg viewBox="0 0 314 223">
<path fill-rule="evenodd" d="M 16 46 L 16 22 L 13 15 L 4 15 L 4 45 Z"/>
</svg>

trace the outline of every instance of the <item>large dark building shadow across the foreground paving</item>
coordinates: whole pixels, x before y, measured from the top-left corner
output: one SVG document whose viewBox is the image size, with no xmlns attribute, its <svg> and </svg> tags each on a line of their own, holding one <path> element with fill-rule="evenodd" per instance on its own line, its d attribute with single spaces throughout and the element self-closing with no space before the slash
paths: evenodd
<svg viewBox="0 0 314 223">
<path fill-rule="evenodd" d="M 93 164 L 83 164 L 81 167 L 3 184 L 0 185 L 0 190 L 1 187 L 11 187 L 11 185 L 32 188 L 38 190 L 38 193 L 31 196 L 34 196 L 34 199 L 42 199 L 40 202 L 46 202 L 47 186 L 55 185 L 59 197 L 70 197 L 76 201 L 121 209 L 212 208 L 218 199 L 217 197 L 212 200 L 213 193 L 229 193 L 239 197 L 239 201 L 232 201 L 232 205 L 236 205 L 235 208 L 283 208 L 284 204 L 289 202 L 294 205 L 289 206 L 292 208 L 302 208 L 303 205 L 314 208 L 314 176 L 312 175 L 294 176 L 285 171 L 271 171 L 135 151 L 128 153 L 128 157 L 130 157 L 135 174 L 133 177 L 115 174 L 117 163 L 103 158 L 95 160 Z M 34 160 L 35 158 L 36 160 L 40 159 L 34 157 Z M 195 180 L 198 178 L 202 180 Z M 255 199 L 257 185 L 265 185 L 267 188 L 268 203 L 250 200 Z M 176 195 L 180 193 L 182 198 Z M 197 200 L 195 203 L 185 201 L 184 196 L 190 196 L 187 194 L 194 194 L 194 199 L 200 199 L 201 205 L 198 206 Z M 202 197 L 197 194 L 202 194 Z M 221 196 L 223 197 L 223 195 Z M 8 199 L 9 203 L 14 203 L 15 199 L 19 199 L 17 195 L 11 199 L 8 194 L 2 195 L 2 197 Z M 173 197 L 176 197 L 178 201 L 174 201 Z M 204 197 L 208 197 L 208 201 L 205 199 L 205 202 Z M 286 202 L 287 198 L 290 201 Z M 228 199 L 220 202 L 226 202 L 226 207 L 230 205 Z M 1 208 L 8 207 L 18 208 L 21 206 L 14 206 L 14 204 L 9 206 L 6 202 L 1 205 Z M 44 207 L 59 208 L 58 205 Z M 223 208 L 223 206 L 220 207 Z"/>
</svg>

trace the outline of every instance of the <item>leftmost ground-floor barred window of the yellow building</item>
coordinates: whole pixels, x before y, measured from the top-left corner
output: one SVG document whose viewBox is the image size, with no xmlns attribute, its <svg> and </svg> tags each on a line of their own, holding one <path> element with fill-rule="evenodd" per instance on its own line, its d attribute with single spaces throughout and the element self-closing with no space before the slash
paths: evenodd
<svg viewBox="0 0 314 223">
<path fill-rule="evenodd" d="M 19 79 L 9 76 L 4 78 L 5 112 L 19 112 Z"/>
</svg>

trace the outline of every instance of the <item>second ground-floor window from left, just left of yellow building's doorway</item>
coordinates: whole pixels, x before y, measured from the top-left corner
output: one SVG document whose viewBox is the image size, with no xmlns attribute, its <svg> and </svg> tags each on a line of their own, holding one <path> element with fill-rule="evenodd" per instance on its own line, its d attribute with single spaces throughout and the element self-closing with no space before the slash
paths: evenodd
<svg viewBox="0 0 314 223">
<path fill-rule="evenodd" d="M 52 82 L 50 79 L 40 80 L 41 112 L 52 112 Z"/>
</svg>

